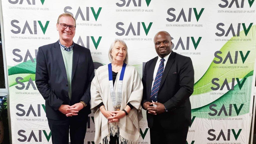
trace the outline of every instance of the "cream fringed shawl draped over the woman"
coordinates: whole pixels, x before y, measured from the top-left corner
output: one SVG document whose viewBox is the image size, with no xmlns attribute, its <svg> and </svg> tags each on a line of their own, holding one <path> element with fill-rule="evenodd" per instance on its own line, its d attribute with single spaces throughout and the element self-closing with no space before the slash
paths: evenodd
<svg viewBox="0 0 256 144">
<path fill-rule="evenodd" d="M 118 73 L 114 84 L 116 95 L 118 91 L 120 72 Z M 96 70 L 91 83 L 91 109 L 94 113 L 95 143 L 109 143 L 110 135 L 115 134 L 119 136 L 120 143 L 136 143 L 140 137 L 139 121 L 142 118 L 142 93 L 143 85 L 138 72 L 133 66 L 127 64 L 122 86 L 121 110 L 126 107 L 127 103 L 133 105 L 134 108 L 131 109 L 127 116 L 124 116 L 118 122 L 108 123 L 108 119 L 102 115 L 98 108 L 98 105 L 103 102 L 106 110 L 114 110 L 109 89 L 108 65 L 101 66 Z"/>
</svg>

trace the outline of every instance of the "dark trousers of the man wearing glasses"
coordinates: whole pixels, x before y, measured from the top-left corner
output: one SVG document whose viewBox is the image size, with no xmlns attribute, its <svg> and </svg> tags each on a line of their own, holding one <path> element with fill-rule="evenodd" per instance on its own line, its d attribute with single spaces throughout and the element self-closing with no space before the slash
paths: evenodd
<svg viewBox="0 0 256 144">
<path fill-rule="evenodd" d="M 69 134 L 72 144 L 83 144 L 87 128 L 86 119 L 69 117 L 66 120 L 52 120 L 48 118 L 51 130 L 51 140 L 53 144 L 68 144 Z"/>
</svg>

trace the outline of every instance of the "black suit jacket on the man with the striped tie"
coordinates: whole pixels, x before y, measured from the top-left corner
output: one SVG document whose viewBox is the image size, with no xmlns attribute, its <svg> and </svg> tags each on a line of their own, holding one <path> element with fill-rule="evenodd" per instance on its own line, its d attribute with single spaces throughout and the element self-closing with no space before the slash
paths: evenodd
<svg viewBox="0 0 256 144">
<path fill-rule="evenodd" d="M 158 57 L 145 65 L 143 83 L 143 103 L 149 101 L 153 82 L 153 73 Z M 194 68 L 189 57 L 171 52 L 165 65 L 158 91 L 157 102 L 164 104 L 168 112 L 152 115 L 147 113 L 148 127 L 152 128 L 154 117 L 167 129 L 189 126 L 191 123 L 191 105 L 189 96 L 194 89 Z"/>
</svg>

